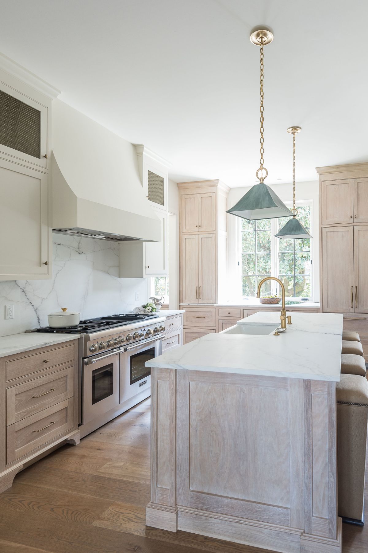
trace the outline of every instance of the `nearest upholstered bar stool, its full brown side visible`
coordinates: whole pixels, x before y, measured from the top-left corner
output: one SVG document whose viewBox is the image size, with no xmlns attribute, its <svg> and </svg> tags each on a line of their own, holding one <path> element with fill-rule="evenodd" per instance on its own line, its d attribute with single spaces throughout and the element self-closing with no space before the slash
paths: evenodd
<svg viewBox="0 0 368 553">
<path fill-rule="evenodd" d="M 364 476 L 368 423 L 368 382 L 342 374 L 336 387 L 338 512 L 344 522 L 364 524 Z"/>
</svg>

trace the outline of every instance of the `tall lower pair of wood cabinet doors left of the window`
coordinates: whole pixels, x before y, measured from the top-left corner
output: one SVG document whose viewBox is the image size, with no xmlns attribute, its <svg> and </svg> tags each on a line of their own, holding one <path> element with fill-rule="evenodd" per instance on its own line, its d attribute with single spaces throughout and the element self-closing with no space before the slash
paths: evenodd
<svg viewBox="0 0 368 553">
<path fill-rule="evenodd" d="M 215 242 L 215 234 L 183 234 L 183 303 L 214 304 L 216 302 Z"/>
</svg>

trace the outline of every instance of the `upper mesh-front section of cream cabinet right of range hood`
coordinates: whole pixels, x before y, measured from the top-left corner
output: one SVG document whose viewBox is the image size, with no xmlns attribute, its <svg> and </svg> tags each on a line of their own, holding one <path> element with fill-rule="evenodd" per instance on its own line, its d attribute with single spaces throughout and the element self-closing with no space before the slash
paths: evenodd
<svg viewBox="0 0 368 553">
<path fill-rule="evenodd" d="M 152 207 L 167 211 L 168 161 L 145 146 L 137 145 L 136 150 L 138 169 L 148 201 Z"/>
</svg>

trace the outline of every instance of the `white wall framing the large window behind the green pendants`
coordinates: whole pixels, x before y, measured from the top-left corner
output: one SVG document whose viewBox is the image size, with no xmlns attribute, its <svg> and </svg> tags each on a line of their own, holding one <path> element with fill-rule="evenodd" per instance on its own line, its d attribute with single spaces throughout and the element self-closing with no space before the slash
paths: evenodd
<svg viewBox="0 0 368 553">
<path fill-rule="evenodd" d="M 280 200 L 283 202 L 292 202 L 292 183 L 269 185 Z M 229 192 L 228 205 L 234 206 L 241 197 L 248 192 L 250 186 L 244 188 L 232 188 Z M 319 301 L 319 184 L 318 181 L 297 182 L 295 188 L 296 201 L 312 201 L 313 221 L 311 234 L 312 240 L 312 259 L 313 259 L 313 299 Z M 235 296 L 241 294 L 241 287 L 237 281 L 237 244 L 236 244 L 236 220 L 234 215 L 228 216 L 228 282 L 227 290 L 223 291 L 222 296 L 227 300 L 236 299 Z M 232 292 L 231 292 L 232 291 Z"/>
</svg>

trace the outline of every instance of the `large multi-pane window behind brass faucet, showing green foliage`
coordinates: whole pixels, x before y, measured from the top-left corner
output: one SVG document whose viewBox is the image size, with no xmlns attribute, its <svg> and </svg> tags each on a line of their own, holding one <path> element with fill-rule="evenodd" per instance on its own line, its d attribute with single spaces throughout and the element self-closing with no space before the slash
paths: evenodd
<svg viewBox="0 0 368 553">
<path fill-rule="evenodd" d="M 297 218 L 311 229 L 311 204 L 297 206 Z M 239 220 L 239 267 L 243 298 L 257 295 L 260 280 L 278 275 L 285 286 L 285 294 L 294 298 L 312 297 L 311 240 L 282 240 L 274 235 L 291 217 Z M 278 283 L 268 281 L 262 286 L 262 295 L 276 294 Z"/>
</svg>

